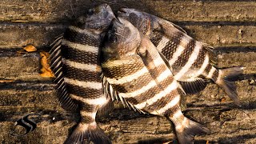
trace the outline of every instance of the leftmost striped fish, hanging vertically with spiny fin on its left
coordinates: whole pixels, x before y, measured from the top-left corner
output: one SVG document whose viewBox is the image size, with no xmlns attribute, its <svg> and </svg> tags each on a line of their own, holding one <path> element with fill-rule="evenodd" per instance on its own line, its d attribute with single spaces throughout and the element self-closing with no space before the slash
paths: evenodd
<svg viewBox="0 0 256 144">
<path fill-rule="evenodd" d="M 107 110 L 110 97 L 103 94 L 99 54 L 102 38 L 114 14 L 107 4 L 78 18 L 50 50 L 58 98 L 66 110 L 79 110 L 81 121 L 66 144 L 111 143 L 95 122 L 99 110 Z"/>
</svg>

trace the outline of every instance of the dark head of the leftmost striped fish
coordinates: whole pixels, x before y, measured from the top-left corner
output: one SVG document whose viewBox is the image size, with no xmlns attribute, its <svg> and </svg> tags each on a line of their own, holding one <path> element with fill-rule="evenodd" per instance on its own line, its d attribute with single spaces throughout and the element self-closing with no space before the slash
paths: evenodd
<svg viewBox="0 0 256 144">
<path fill-rule="evenodd" d="M 110 6 L 106 3 L 87 10 L 85 16 L 77 20 L 78 27 L 82 29 L 91 29 L 104 31 L 110 26 L 111 21 L 115 18 Z"/>
</svg>

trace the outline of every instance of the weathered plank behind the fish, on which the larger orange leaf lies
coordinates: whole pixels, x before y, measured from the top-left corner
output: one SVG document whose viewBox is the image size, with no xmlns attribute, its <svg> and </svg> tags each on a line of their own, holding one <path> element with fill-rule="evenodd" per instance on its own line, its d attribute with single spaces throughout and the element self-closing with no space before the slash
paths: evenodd
<svg viewBox="0 0 256 144">
<path fill-rule="evenodd" d="M 218 54 L 218 67 L 246 66 L 244 74 L 256 74 L 255 58 L 256 52 L 220 52 Z M 42 78 L 39 75 L 41 66 L 40 56 L 37 52 L 17 54 L 15 51 L 4 50 L 3 55 L 0 56 L 0 67 L 2 67 L 0 80 L 34 82 L 53 80 L 53 78 Z"/>
</svg>

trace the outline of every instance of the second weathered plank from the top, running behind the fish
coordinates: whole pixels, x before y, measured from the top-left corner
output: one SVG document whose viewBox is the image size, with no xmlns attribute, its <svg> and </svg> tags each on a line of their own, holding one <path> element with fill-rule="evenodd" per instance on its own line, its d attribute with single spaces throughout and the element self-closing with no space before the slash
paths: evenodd
<svg viewBox="0 0 256 144">
<path fill-rule="evenodd" d="M 182 26 L 198 41 L 211 46 L 256 46 L 256 26 L 188 25 Z M 0 48 L 21 48 L 27 43 L 49 46 L 65 31 L 66 25 L 2 24 Z"/>
</svg>

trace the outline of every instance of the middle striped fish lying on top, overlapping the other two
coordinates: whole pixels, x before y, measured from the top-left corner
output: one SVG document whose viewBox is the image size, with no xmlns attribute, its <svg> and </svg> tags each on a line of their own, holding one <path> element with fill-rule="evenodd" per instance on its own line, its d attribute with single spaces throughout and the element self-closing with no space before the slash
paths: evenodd
<svg viewBox="0 0 256 144">
<path fill-rule="evenodd" d="M 114 19 L 102 47 L 102 71 L 127 105 L 174 122 L 180 143 L 208 132 L 182 114 L 183 94 L 153 43 L 125 19 Z"/>
</svg>

